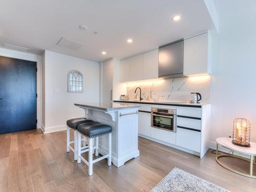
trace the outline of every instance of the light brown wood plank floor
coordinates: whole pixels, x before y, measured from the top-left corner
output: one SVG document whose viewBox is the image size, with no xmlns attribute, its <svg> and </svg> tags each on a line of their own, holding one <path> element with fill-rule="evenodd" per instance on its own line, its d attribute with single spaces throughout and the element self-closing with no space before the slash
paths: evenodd
<svg viewBox="0 0 256 192">
<path fill-rule="evenodd" d="M 119 168 L 109 167 L 106 160 L 95 163 L 94 174 L 89 177 L 86 164 L 78 165 L 73 153 L 66 153 L 66 131 L 46 135 L 38 130 L 3 134 L 0 191 L 150 191 L 173 167 L 230 191 L 256 191 L 256 179 L 224 169 L 210 150 L 200 160 L 140 137 L 139 150 L 138 158 Z M 236 161 L 234 165 L 249 172 L 245 162 Z"/>
</svg>

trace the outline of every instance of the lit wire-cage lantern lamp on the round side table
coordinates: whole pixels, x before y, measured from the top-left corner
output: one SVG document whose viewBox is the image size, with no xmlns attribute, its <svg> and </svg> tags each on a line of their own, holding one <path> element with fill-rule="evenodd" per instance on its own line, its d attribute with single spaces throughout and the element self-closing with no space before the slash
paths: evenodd
<svg viewBox="0 0 256 192">
<path fill-rule="evenodd" d="M 250 146 L 250 121 L 242 118 L 233 121 L 232 143 L 239 146 Z"/>
</svg>

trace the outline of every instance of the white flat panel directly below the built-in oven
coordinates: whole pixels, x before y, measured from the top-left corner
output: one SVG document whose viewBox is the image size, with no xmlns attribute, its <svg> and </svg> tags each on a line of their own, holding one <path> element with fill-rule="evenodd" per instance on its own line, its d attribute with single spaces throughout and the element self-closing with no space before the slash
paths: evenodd
<svg viewBox="0 0 256 192">
<path fill-rule="evenodd" d="M 176 144 L 176 133 L 151 127 L 151 137 L 167 143 Z"/>
</svg>

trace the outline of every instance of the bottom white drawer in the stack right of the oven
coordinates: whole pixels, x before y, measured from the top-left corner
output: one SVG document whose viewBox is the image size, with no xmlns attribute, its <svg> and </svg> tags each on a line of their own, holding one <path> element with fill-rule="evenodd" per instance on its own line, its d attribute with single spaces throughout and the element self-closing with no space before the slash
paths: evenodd
<svg viewBox="0 0 256 192">
<path fill-rule="evenodd" d="M 177 127 L 176 145 L 200 153 L 201 133 Z"/>
</svg>

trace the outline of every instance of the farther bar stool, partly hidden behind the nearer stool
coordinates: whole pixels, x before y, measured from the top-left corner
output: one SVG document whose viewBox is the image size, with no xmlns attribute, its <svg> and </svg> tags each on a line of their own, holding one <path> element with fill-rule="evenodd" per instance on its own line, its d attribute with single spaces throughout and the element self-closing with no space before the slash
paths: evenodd
<svg viewBox="0 0 256 192">
<path fill-rule="evenodd" d="M 87 122 L 92 122 L 92 120 L 87 118 L 75 118 L 67 120 L 67 152 L 70 152 L 70 150 L 74 152 L 75 161 L 77 160 L 77 126 Z M 70 129 L 74 130 L 74 141 L 70 141 Z M 71 143 L 74 143 L 74 148 L 70 146 Z"/>
</svg>

